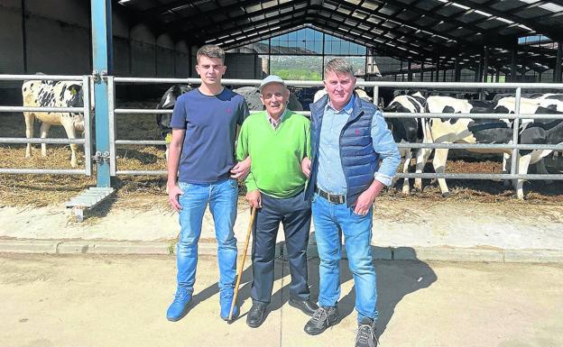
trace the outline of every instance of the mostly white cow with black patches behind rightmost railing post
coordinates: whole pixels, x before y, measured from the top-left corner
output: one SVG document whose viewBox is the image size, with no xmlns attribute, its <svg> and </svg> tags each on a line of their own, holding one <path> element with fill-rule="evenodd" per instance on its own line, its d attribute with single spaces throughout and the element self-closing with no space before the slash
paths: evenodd
<svg viewBox="0 0 563 347">
<path fill-rule="evenodd" d="M 513 98 L 512 98 L 513 99 Z M 522 99 L 522 114 L 553 114 L 558 113 L 558 106 L 553 105 L 559 103 L 558 100 L 552 100 L 549 107 L 535 104 L 528 108 L 529 100 Z M 508 101 L 499 103 L 477 101 L 477 100 L 459 100 L 448 96 L 429 96 L 427 99 L 427 111 L 429 113 L 463 113 L 463 114 L 489 114 L 489 113 L 507 113 L 507 108 L 500 105 L 509 105 Z M 496 106 L 496 107 L 495 107 Z M 521 143 L 559 143 L 559 138 L 563 135 L 560 133 L 560 124 L 562 121 L 531 121 L 525 122 L 520 127 Z M 544 132 L 545 125 L 549 124 L 550 128 Z M 425 142 L 429 143 L 512 143 L 512 121 L 494 120 L 494 119 L 452 119 L 452 118 L 430 118 L 424 121 Z M 559 131 L 559 134 L 558 134 Z M 524 140 L 525 139 L 525 140 Z M 525 142 L 524 142 L 525 141 Z M 559 141 L 559 142 L 558 142 Z M 512 150 L 478 150 L 472 149 L 467 151 L 475 151 L 481 153 L 505 153 L 510 155 Z M 429 150 L 423 150 L 423 158 L 427 159 Z M 526 173 L 528 166 L 535 163 L 550 151 L 521 151 L 519 160 L 520 173 Z M 437 149 L 434 153 L 432 162 L 437 173 L 444 173 L 446 170 L 446 161 L 448 160 L 448 149 Z M 425 161 L 425 160 L 423 160 Z M 422 168 L 417 168 L 417 172 L 422 172 Z M 420 171 L 419 171 L 420 170 Z M 449 190 L 446 180 L 438 178 L 438 184 L 442 191 L 442 196 L 448 196 Z M 515 184 L 517 196 L 523 198 L 522 191 L 523 180 L 517 180 Z"/>
</svg>

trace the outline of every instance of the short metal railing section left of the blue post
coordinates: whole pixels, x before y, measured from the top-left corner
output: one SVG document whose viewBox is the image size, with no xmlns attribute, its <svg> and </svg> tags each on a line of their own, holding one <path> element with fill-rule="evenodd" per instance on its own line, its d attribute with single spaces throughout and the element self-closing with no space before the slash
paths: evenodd
<svg viewBox="0 0 563 347">
<path fill-rule="evenodd" d="M 0 113 L 13 112 L 56 112 L 56 113 L 81 113 L 84 114 L 84 139 L 42 139 L 25 137 L 0 137 L 0 143 L 51 143 L 70 144 L 76 143 L 84 146 L 85 169 L 36 169 L 36 168 L 0 168 L 0 174 L 58 174 L 58 175 L 92 175 L 92 127 L 90 114 L 90 83 L 88 76 L 63 76 L 63 75 L 0 75 L 0 81 L 26 81 L 26 80 L 52 80 L 52 81 L 79 81 L 82 83 L 82 107 L 23 107 L 0 106 Z M 1 114 L 0 114 L 1 116 Z M 23 117 L 22 117 L 23 122 Z"/>
</svg>

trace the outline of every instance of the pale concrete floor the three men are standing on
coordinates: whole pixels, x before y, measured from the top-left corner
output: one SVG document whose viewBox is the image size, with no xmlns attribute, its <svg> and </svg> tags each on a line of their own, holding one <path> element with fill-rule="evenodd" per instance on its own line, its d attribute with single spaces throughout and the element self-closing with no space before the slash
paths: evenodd
<svg viewBox="0 0 563 347">
<path fill-rule="evenodd" d="M 247 266 L 250 261 L 247 261 Z M 201 257 L 196 305 L 180 322 L 165 311 L 175 286 L 173 256 L 0 255 L 0 346 L 353 346 L 355 295 L 342 262 L 342 322 L 318 336 L 287 305 L 287 262 L 276 262 L 270 313 L 245 324 L 219 318 L 217 260 Z M 563 267 L 540 264 L 376 261 L 381 346 L 563 345 Z M 309 261 L 318 294 L 318 260 Z"/>
</svg>

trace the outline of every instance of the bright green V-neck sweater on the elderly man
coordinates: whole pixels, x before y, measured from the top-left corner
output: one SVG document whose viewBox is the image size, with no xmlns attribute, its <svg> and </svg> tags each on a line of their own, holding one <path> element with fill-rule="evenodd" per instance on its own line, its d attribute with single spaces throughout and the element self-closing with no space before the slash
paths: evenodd
<svg viewBox="0 0 563 347">
<path fill-rule="evenodd" d="M 278 198 L 291 197 L 304 187 L 301 160 L 309 157 L 310 123 L 301 114 L 287 111 L 273 130 L 265 111 L 251 114 L 243 123 L 236 145 L 237 160 L 252 160 L 246 190 L 259 189 Z"/>
</svg>

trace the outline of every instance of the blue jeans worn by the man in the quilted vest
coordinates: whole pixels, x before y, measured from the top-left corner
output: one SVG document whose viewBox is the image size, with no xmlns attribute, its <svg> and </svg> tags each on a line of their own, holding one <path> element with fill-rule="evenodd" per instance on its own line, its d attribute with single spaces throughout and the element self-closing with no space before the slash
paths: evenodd
<svg viewBox="0 0 563 347">
<path fill-rule="evenodd" d="M 315 237 L 317 238 L 320 265 L 319 306 L 337 306 L 340 297 L 340 231 L 344 234 L 348 266 L 354 276 L 355 310 L 358 322 L 364 317 L 377 319 L 377 288 L 375 269 L 372 263 L 372 217 L 355 215 L 346 204 L 333 204 L 315 194 L 312 203 Z"/>
</svg>

